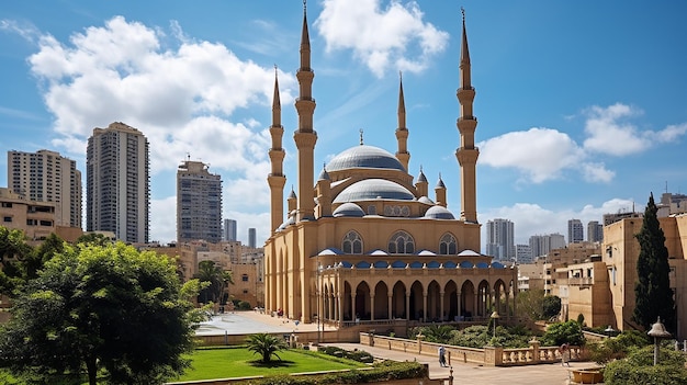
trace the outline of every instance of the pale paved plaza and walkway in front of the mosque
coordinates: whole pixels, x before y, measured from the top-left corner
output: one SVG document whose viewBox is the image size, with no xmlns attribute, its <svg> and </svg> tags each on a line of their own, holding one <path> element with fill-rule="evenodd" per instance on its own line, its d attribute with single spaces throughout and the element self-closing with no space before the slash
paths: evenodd
<svg viewBox="0 0 687 385">
<path fill-rule="evenodd" d="M 293 320 L 261 314 L 259 312 L 237 312 L 213 317 L 203 322 L 198 330 L 200 335 L 245 335 L 252 332 L 292 332 L 315 331 L 316 324 L 295 325 Z M 326 330 L 334 330 L 327 327 Z M 360 343 L 327 343 L 346 350 L 364 350 L 370 354 L 394 361 L 418 361 L 429 365 L 430 378 L 448 378 L 450 367 L 441 367 L 436 356 L 418 355 L 408 352 L 398 352 L 382 348 L 363 346 Z M 568 384 L 570 369 L 596 366 L 593 362 L 571 362 L 571 367 L 561 364 L 523 365 L 514 367 L 492 367 L 474 363 L 451 362 L 453 384 L 462 385 L 563 385 Z"/>
</svg>

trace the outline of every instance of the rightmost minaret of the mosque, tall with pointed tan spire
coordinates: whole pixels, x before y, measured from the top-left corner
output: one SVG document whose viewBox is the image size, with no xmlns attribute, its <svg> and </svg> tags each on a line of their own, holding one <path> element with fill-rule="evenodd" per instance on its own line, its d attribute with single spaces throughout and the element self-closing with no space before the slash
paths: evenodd
<svg viewBox="0 0 687 385">
<path fill-rule="evenodd" d="M 455 158 L 461 166 L 461 219 L 477 223 L 476 163 L 480 150 L 475 147 L 477 118 L 472 114 L 475 89 L 470 79 L 470 52 L 465 31 L 465 11 L 463 13 L 463 44 L 461 46 L 460 88 L 455 92 L 461 105 L 457 126 L 461 135 L 461 146 L 455 150 Z"/>
</svg>

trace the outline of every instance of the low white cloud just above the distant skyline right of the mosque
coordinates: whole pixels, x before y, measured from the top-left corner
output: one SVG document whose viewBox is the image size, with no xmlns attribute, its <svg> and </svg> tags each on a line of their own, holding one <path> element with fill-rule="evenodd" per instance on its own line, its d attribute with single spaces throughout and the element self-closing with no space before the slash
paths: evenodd
<svg viewBox="0 0 687 385">
<path fill-rule="evenodd" d="M 604 214 L 629 212 L 634 207 L 634 202 L 628 199 L 612 199 L 604 202 L 600 206 L 585 205 L 582 208 L 562 208 L 552 211 L 532 203 L 516 203 L 513 206 L 487 208 L 480 213 L 480 222 L 486 223 L 494 218 L 506 218 L 515 224 L 515 242 L 527 245 L 529 237 L 559 233 L 565 236 L 567 241 L 567 220 L 581 219 L 585 226 L 590 220 L 602 223 Z M 634 207 L 641 211 L 641 207 Z M 483 226 L 483 233 L 486 226 Z M 586 230 L 585 230 L 586 233 Z M 482 240 L 486 241 L 483 234 Z"/>
</svg>

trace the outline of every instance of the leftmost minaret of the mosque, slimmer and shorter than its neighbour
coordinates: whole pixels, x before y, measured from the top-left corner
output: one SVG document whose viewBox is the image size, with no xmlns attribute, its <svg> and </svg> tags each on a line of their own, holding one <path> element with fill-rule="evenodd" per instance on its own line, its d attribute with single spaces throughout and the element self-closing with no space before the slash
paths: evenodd
<svg viewBox="0 0 687 385">
<path fill-rule="evenodd" d="M 267 183 L 270 185 L 271 202 L 271 227 L 274 231 L 284 218 L 284 183 L 286 177 L 283 173 L 283 162 L 285 151 L 281 147 L 284 127 L 281 125 L 281 101 L 279 98 L 279 79 L 277 78 L 277 66 L 274 66 L 274 97 L 272 98 L 272 125 L 270 126 L 270 135 L 272 136 L 272 147 L 269 156 L 272 163 L 272 172 L 267 177 Z"/>
</svg>

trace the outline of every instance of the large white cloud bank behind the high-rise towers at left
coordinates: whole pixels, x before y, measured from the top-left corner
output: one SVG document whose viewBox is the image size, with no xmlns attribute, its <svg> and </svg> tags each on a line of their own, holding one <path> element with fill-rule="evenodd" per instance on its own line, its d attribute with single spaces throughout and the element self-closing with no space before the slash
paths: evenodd
<svg viewBox="0 0 687 385">
<path fill-rule="evenodd" d="M 148 138 L 154 174 L 172 174 L 190 154 L 222 174 L 225 217 L 247 207 L 267 212 L 270 123 L 251 117 L 249 109 L 268 111 L 274 68 L 241 59 L 221 43 L 189 37 L 176 21 L 165 31 L 114 16 L 67 42 L 49 34 L 34 42 L 37 52 L 29 64 L 54 115 L 54 146 L 83 157 L 94 127 L 124 122 Z M 281 100 L 292 100 L 295 78 L 278 75 Z M 172 240 L 176 197 L 151 189 L 159 196 L 150 204 L 151 238 Z M 241 226 L 249 224 L 267 234 L 269 220 Z"/>
</svg>

